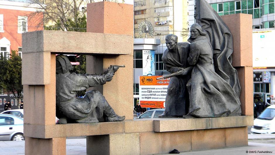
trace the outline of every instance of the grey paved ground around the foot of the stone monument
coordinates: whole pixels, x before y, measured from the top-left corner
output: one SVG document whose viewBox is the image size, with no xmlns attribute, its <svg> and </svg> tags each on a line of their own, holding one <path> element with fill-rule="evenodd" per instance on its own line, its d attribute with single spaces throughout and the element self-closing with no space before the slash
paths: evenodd
<svg viewBox="0 0 275 155">
<path fill-rule="evenodd" d="M 275 139 L 275 134 L 249 134 L 248 139 Z M 24 149 L 25 141 L 0 141 L 0 154 L 4 153 L 5 155 L 24 155 Z M 256 153 L 251 153 L 252 151 L 256 151 Z M 261 153 L 258 151 L 269 152 Z M 86 155 L 86 139 L 66 139 L 66 154 Z M 248 142 L 248 146 L 245 147 L 190 151 L 182 152 L 179 155 L 275 155 L 275 144 Z"/>
</svg>

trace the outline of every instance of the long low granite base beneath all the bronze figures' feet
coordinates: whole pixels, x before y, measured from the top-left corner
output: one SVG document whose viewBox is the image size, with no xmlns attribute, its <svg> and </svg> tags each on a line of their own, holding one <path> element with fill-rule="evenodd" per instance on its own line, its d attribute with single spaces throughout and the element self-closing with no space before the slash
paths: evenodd
<svg viewBox="0 0 275 155">
<path fill-rule="evenodd" d="M 87 136 L 87 155 L 167 154 L 173 149 L 184 152 L 247 146 L 247 126 L 251 125 L 253 116 L 137 119 L 46 126 L 25 124 L 25 130 L 31 130 L 25 134 L 25 145 L 32 148 L 33 143 L 39 144 L 42 150 L 53 150 L 51 155 L 57 155 L 66 152 L 65 137 Z M 26 149 L 25 154 L 32 152 Z"/>
</svg>

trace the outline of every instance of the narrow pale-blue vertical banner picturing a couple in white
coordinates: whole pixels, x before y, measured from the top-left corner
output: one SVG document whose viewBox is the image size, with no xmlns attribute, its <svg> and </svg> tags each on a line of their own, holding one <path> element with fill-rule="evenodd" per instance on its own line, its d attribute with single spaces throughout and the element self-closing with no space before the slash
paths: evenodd
<svg viewBox="0 0 275 155">
<path fill-rule="evenodd" d="M 142 75 L 155 75 L 155 51 L 142 50 Z"/>
</svg>

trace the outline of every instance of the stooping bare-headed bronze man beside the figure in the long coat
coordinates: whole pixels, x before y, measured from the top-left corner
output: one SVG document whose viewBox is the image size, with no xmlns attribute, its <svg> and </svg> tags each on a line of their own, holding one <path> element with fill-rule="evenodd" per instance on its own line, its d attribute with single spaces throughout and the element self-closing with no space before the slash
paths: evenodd
<svg viewBox="0 0 275 155">
<path fill-rule="evenodd" d="M 190 79 L 190 70 L 192 70 L 192 67 L 188 67 L 187 63 L 189 44 L 187 42 L 178 43 L 178 37 L 172 34 L 166 35 L 165 41 L 167 49 L 163 53 L 162 60 L 166 70 L 170 73 L 183 72 L 171 77 L 165 100 L 165 110 L 163 114 L 159 115 L 159 118 L 182 117 L 187 114 L 189 103 L 186 88 Z"/>
</svg>

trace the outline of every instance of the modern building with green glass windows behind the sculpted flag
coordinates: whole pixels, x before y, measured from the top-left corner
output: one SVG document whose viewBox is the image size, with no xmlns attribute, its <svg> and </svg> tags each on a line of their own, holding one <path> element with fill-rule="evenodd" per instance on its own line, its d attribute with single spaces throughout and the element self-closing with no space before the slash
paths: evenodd
<svg viewBox="0 0 275 155">
<path fill-rule="evenodd" d="M 274 28 L 274 0 L 207 0 L 222 15 L 246 13 L 253 18 L 253 28 Z M 195 23 L 195 0 L 189 0 L 189 25 Z"/>
</svg>

